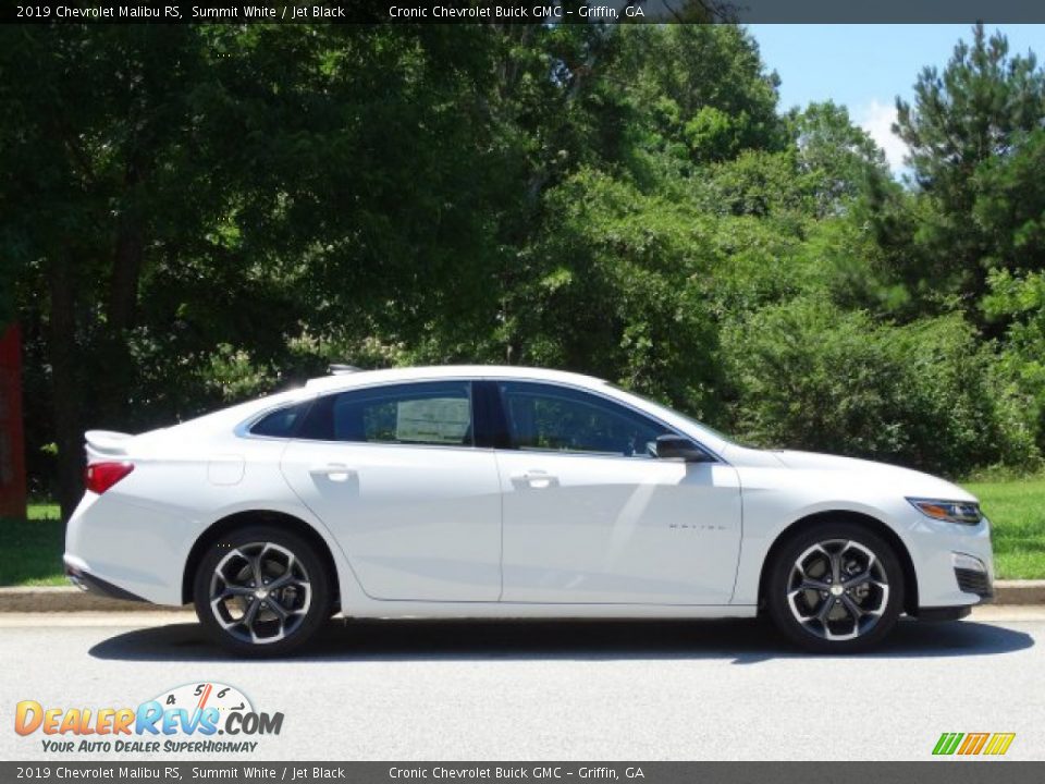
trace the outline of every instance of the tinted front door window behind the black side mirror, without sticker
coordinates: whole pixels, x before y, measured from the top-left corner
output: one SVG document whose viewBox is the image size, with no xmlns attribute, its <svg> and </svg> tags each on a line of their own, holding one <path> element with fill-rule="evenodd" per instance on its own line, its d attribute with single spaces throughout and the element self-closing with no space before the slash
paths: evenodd
<svg viewBox="0 0 1045 784">
<path fill-rule="evenodd" d="M 660 422 L 598 395 L 554 384 L 500 384 L 512 445 L 520 450 L 651 457 Z"/>
</svg>

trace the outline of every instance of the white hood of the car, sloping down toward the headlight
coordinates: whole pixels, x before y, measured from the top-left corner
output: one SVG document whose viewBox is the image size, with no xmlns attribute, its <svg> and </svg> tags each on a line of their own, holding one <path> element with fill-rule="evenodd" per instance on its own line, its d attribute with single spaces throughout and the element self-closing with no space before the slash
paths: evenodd
<svg viewBox="0 0 1045 784">
<path fill-rule="evenodd" d="M 861 485 L 874 483 L 907 497 L 936 498 L 948 501 L 976 501 L 968 491 L 939 477 L 922 471 L 817 452 L 798 452 L 792 450 L 750 450 L 730 449 L 723 455 L 737 467 L 769 467 L 770 461 L 778 467 L 809 473 L 843 473 L 846 479 Z M 840 477 L 839 477 L 840 478 Z"/>
</svg>

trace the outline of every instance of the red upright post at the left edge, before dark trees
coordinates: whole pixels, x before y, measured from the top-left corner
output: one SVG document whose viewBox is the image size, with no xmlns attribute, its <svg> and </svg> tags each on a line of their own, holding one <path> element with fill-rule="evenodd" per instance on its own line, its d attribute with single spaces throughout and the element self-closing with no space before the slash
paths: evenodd
<svg viewBox="0 0 1045 784">
<path fill-rule="evenodd" d="M 25 517 L 22 331 L 0 328 L 0 517 Z"/>
</svg>

